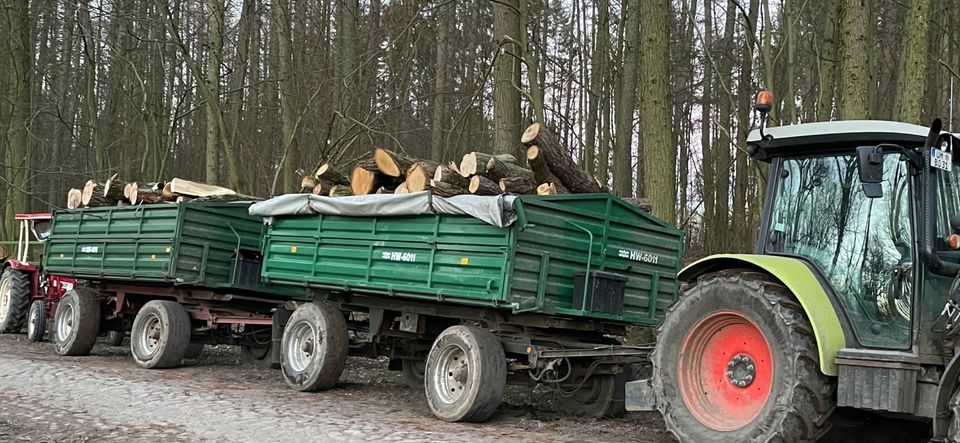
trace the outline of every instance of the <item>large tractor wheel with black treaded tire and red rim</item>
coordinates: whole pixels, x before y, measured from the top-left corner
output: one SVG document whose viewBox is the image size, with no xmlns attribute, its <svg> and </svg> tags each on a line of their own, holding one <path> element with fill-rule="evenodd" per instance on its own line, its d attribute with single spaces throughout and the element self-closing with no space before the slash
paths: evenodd
<svg viewBox="0 0 960 443">
<path fill-rule="evenodd" d="M 764 364 L 767 358 L 772 364 Z M 713 366 L 720 374 L 697 364 L 711 359 L 729 361 Z M 820 372 L 803 308 L 762 273 L 701 276 L 667 314 L 653 367 L 658 409 L 683 442 L 815 441 L 827 431 L 836 404 L 834 381 Z M 736 402 L 724 403 L 724 397 Z"/>
</svg>

